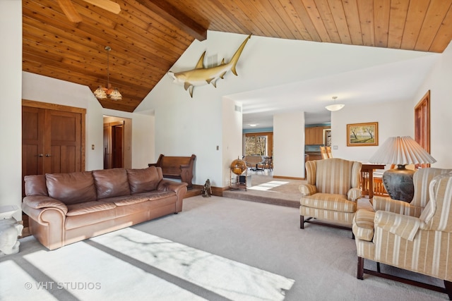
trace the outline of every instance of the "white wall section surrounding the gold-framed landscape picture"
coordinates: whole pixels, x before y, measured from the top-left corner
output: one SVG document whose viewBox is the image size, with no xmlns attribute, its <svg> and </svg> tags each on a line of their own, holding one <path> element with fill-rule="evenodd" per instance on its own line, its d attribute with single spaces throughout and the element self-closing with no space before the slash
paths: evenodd
<svg viewBox="0 0 452 301">
<path fill-rule="evenodd" d="M 347 124 L 379 123 L 379 145 L 388 137 L 414 137 L 415 113 L 411 100 L 386 102 L 378 105 L 345 106 L 331 112 L 331 152 L 333 157 L 356 161 L 369 161 L 379 148 L 347 147 Z M 338 149 L 334 149 L 338 147 Z"/>
</svg>

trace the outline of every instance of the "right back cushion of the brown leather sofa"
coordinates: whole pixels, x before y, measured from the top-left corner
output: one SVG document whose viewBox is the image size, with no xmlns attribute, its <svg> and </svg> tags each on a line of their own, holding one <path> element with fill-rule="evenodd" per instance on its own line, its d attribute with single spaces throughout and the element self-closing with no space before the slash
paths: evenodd
<svg viewBox="0 0 452 301">
<path fill-rule="evenodd" d="M 161 168 L 158 167 L 160 170 Z M 157 185 L 162 180 L 162 173 L 157 171 L 155 166 L 143 169 L 127 169 L 129 186 L 131 193 L 148 192 L 157 189 Z"/>
</svg>

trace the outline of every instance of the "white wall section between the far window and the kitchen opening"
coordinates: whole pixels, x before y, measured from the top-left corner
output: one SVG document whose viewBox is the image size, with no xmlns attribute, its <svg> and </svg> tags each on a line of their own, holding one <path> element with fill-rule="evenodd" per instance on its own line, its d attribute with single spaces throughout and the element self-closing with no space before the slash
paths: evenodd
<svg viewBox="0 0 452 301">
<path fill-rule="evenodd" d="M 304 178 L 304 112 L 273 116 L 273 176 Z"/>
</svg>

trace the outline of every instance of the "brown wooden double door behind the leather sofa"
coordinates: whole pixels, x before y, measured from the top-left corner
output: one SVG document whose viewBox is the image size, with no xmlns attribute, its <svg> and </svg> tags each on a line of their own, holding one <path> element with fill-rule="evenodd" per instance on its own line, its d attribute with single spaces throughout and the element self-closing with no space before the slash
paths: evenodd
<svg viewBox="0 0 452 301">
<path fill-rule="evenodd" d="M 23 101 L 22 176 L 84 171 L 84 121 L 84 109 Z"/>
</svg>

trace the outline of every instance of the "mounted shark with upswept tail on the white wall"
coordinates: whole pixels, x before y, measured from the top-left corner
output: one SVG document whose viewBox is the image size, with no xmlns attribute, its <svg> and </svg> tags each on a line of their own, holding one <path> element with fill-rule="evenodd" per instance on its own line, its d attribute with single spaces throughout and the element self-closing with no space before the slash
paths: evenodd
<svg viewBox="0 0 452 301">
<path fill-rule="evenodd" d="M 225 59 L 222 59 L 220 65 L 211 68 L 204 68 L 203 61 L 204 56 L 206 56 L 206 51 L 204 51 L 201 55 L 201 58 L 199 58 L 198 63 L 196 64 L 196 68 L 178 73 L 168 71 L 168 74 L 172 78 L 174 78 L 174 82 L 184 84 L 184 89 L 189 90 L 191 97 L 193 97 L 194 86 L 208 85 L 211 82 L 213 87 L 217 87 L 217 80 L 220 78 L 222 79 L 227 71 L 231 70 L 234 75 L 237 75 L 235 66 L 237 65 L 240 54 L 242 54 L 246 42 L 248 42 L 250 37 L 251 35 L 246 37 L 242 45 L 240 45 L 239 49 L 235 51 L 235 54 L 234 56 L 232 56 L 232 59 L 229 63 L 225 63 Z"/>
</svg>

